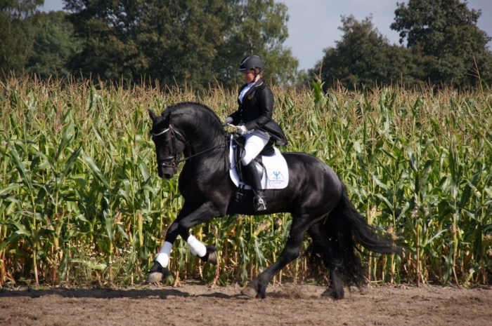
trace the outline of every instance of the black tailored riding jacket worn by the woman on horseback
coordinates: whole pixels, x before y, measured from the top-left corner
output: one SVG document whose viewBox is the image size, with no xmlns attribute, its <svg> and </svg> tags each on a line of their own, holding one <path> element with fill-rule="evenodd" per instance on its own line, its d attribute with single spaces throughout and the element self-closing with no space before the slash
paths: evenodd
<svg viewBox="0 0 492 326">
<path fill-rule="evenodd" d="M 239 88 L 239 94 L 246 86 L 247 84 L 244 84 Z M 268 133 L 276 145 L 283 146 L 287 144 L 287 137 L 280 125 L 273 121 L 273 101 L 271 89 L 260 78 L 242 97 L 242 103 L 238 97 L 239 108 L 231 114 L 231 118 L 235 125 L 245 123 L 247 130 L 262 130 Z"/>
</svg>

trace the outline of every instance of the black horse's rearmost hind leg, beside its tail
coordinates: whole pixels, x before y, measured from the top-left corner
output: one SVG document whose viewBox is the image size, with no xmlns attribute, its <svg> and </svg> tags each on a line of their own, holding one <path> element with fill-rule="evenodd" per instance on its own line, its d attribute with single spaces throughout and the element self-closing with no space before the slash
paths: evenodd
<svg viewBox="0 0 492 326">
<path fill-rule="evenodd" d="M 326 233 L 323 226 L 323 219 L 311 226 L 308 233 L 313 239 L 313 245 L 323 250 L 323 262 L 325 263 L 325 266 L 330 269 L 330 286 L 321 295 L 323 297 L 332 297 L 335 300 L 343 299 L 344 287 L 342 285 L 342 278 L 340 275 L 342 257 L 339 254 L 335 239 L 330 238 L 330 236 Z"/>
</svg>

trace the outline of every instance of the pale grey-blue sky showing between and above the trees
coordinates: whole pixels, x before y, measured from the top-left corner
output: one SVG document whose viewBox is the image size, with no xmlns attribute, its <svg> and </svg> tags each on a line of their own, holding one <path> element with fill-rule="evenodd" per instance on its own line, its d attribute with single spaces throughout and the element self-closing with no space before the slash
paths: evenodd
<svg viewBox="0 0 492 326">
<path fill-rule="evenodd" d="M 342 39 L 341 15 L 363 20 L 373 15 L 373 25 L 390 43 L 399 43 L 398 32 L 389 28 L 394 21 L 397 2 L 408 0 L 276 0 L 288 8 L 289 37 L 284 46 L 299 60 L 299 69 L 310 69 L 323 58 L 323 49 L 334 47 Z M 492 36 L 492 0 L 468 0 L 468 8 L 481 9 L 478 27 Z M 44 0 L 43 11 L 63 9 L 62 0 Z M 492 50 L 492 42 L 488 43 Z"/>
</svg>

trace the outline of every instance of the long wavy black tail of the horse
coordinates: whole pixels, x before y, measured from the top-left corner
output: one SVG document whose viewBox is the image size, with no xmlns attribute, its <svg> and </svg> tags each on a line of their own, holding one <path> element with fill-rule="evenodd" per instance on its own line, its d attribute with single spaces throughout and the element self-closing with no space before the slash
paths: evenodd
<svg viewBox="0 0 492 326">
<path fill-rule="evenodd" d="M 361 259 L 356 254 L 359 243 L 365 249 L 380 254 L 399 252 L 389 236 L 375 233 L 349 200 L 342 181 L 342 196 L 321 226 L 324 239 L 313 239 L 307 250 L 311 267 L 323 266 L 339 269 L 348 283 L 365 283 Z M 321 243 L 319 240 L 321 240 Z"/>
</svg>

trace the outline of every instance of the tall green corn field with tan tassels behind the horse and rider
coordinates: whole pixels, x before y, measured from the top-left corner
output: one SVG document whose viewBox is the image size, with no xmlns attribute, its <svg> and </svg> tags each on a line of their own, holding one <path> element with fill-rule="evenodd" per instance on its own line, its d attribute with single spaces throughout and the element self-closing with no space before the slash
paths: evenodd
<svg viewBox="0 0 492 326">
<path fill-rule="evenodd" d="M 157 177 L 147 109 L 202 102 L 224 120 L 235 94 L 8 79 L 0 83 L 0 287 L 141 284 L 183 199 Z M 368 223 L 403 247 L 361 254 L 372 283 L 488 284 L 492 278 L 492 93 L 273 88 L 290 143 L 328 163 Z M 168 283 L 245 283 L 276 260 L 290 215 L 225 216 L 179 238 Z M 310 239 L 304 240 L 304 248 Z M 284 279 L 323 283 L 292 262 Z"/>
</svg>

